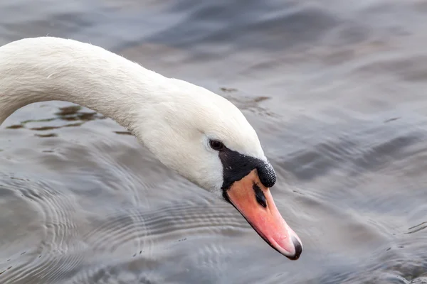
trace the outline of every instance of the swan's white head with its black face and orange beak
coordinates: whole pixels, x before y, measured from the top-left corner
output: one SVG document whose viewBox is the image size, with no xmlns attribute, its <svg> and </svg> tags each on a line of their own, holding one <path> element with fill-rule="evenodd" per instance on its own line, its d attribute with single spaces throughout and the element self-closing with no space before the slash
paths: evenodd
<svg viewBox="0 0 427 284">
<path fill-rule="evenodd" d="M 137 111 L 146 116 L 135 136 L 164 165 L 236 207 L 273 249 L 299 258 L 302 243 L 270 194 L 275 171 L 242 112 L 203 87 L 165 80 L 161 99 Z"/>
</svg>

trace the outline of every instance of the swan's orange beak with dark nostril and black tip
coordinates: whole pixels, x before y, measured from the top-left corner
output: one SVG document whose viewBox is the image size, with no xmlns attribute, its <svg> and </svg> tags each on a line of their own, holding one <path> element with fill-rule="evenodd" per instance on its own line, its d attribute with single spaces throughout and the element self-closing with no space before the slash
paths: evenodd
<svg viewBox="0 0 427 284">
<path fill-rule="evenodd" d="M 226 196 L 273 249 L 292 260 L 300 257 L 301 240 L 280 215 L 270 190 L 260 182 L 257 170 L 234 182 Z"/>
</svg>

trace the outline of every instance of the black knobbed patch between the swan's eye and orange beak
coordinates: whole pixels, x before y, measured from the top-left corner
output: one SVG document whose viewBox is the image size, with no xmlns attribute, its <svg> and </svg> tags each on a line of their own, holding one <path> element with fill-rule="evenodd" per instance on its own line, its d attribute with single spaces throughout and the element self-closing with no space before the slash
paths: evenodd
<svg viewBox="0 0 427 284">
<path fill-rule="evenodd" d="M 269 163 L 248 155 L 242 155 L 225 146 L 222 151 L 218 152 L 218 155 L 223 165 L 222 189 L 224 191 L 228 190 L 233 182 L 246 177 L 254 169 L 258 170 L 260 182 L 265 187 L 272 187 L 275 184 L 276 175 Z"/>
</svg>

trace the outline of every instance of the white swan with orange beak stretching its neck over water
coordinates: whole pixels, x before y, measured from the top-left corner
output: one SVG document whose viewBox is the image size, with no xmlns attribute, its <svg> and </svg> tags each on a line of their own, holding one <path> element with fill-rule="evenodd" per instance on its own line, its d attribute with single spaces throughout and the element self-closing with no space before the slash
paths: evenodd
<svg viewBox="0 0 427 284">
<path fill-rule="evenodd" d="M 164 165 L 226 200 L 273 249 L 302 243 L 278 211 L 257 133 L 227 99 L 90 43 L 24 38 L 0 47 L 0 124 L 34 102 L 72 102 L 128 129 Z"/>
</svg>

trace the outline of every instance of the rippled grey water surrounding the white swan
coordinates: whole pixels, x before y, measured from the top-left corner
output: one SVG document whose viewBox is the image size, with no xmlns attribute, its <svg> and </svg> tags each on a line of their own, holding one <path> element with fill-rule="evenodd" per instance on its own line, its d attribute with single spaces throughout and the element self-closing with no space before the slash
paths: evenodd
<svg viewBox="0 0 427 284">
<path fill-rule="evenodd" d="M 1 1 L 1 44 L 90 41 L 231 99 L 305 250 L 48 102 L 1 126 L 0 283 L 427 283 L 426 26 L 421 0 Z"/>
</svg>

